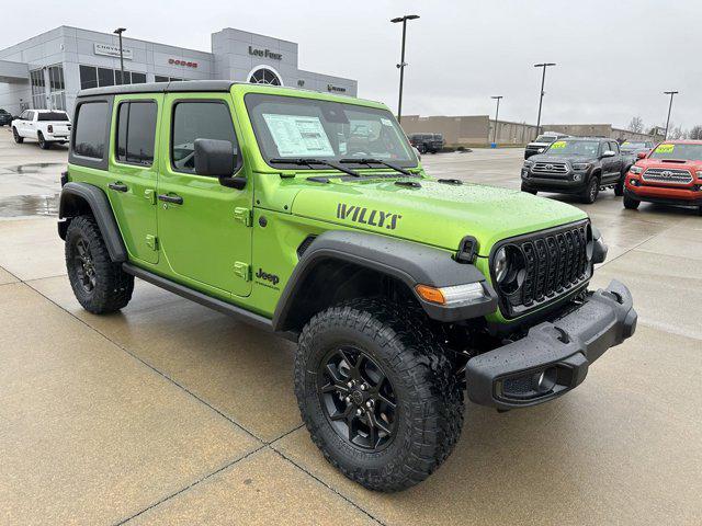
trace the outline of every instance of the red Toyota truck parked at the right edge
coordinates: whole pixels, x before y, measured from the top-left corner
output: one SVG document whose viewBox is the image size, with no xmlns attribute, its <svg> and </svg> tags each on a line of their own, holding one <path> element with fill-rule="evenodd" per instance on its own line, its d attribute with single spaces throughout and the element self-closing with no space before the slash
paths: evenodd
<svg viewBox="0 0 702 526">
<path fill-rule="evenodd" d="M 702 140 L 667 140 L 638 153 L 626 174 L 624 207 L 636 209 L 642 201 L 695 206 L 702 215 Z"/>
</svg>

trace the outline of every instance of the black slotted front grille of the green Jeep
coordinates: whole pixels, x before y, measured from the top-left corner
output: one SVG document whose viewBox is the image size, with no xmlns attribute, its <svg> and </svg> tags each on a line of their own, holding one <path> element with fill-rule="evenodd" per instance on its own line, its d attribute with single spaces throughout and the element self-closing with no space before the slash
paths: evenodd
<svg viewBox="0 0 702 526">
<path fill-rule="evenodd" d="M 589 221 L 566 225 L 499 243 L 508 253 L 521 254 L 524 272 L 517 278 L 521 286 L 498 294 L 503 313 L 522 316 L 555 300 L 590 278 L 587 244 Z M 521 281 L 520 281 L 521 279 Z M 495 276 L 492 276 L 495 283 Z"/>
</svg>

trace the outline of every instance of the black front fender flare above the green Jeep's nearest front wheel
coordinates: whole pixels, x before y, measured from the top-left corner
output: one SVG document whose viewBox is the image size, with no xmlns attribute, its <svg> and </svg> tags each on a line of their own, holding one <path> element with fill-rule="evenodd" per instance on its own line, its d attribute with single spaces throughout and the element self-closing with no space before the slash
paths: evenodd
<svg viewBox="0 0 702 526">
<path fill-rule="evenodd" d="M 468 320 L 494 312 L 497 294 L 485 275 L 473 264 L 458 263 L 450 253 L 433 247 L 385 236 L 329 230 L 312 242 L 293 270 L 273 315 L 273 329 L 286 331 L 295 297 L 305 279 L 322 262 L 337 260 L 392 276 L 406 284 L 427 315 L 438 321 Z M 483 284 L 484 301 L 467 306 L 445 307 L 419 297 L 416 285 L 450 287 L 469 283 Z M 331 285 L 331 284 L 330 284 Z"/>
</svg>

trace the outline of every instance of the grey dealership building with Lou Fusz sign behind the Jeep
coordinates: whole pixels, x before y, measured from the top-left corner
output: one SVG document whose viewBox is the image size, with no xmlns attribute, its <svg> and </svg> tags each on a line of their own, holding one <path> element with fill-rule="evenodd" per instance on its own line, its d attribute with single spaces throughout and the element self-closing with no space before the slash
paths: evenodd
<svg viewBox="0 0 702 526">
<path fill-rule="evenodd" d="M 355 96 L 355 80 L 298 68 L 294 42 L 224 28 L 212 52 L 60 26 L 0 50 L 0 108 L 72 112 L 78 91 L 122 83 L 230 79 Z"/>
</svg>

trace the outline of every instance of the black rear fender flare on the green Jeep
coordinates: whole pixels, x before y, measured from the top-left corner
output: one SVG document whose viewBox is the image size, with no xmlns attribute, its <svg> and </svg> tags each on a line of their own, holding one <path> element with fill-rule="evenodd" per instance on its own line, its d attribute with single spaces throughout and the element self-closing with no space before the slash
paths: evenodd
<svg viewBox="0 0 702 526">
<path fill-rule="evenodd" d="M 66 219 L 84 214 L 86 205 L 95 218 L 112 261 L 115 263 L 126 262 L 127 249 L 112 213 L 110 201 L 105 193 L 93 184 L 66 183 L 64 185 L 58 205 L 58 235 L 60 238 L 66 239 L 66 230 L 68 229 Z"/>
</svg>

